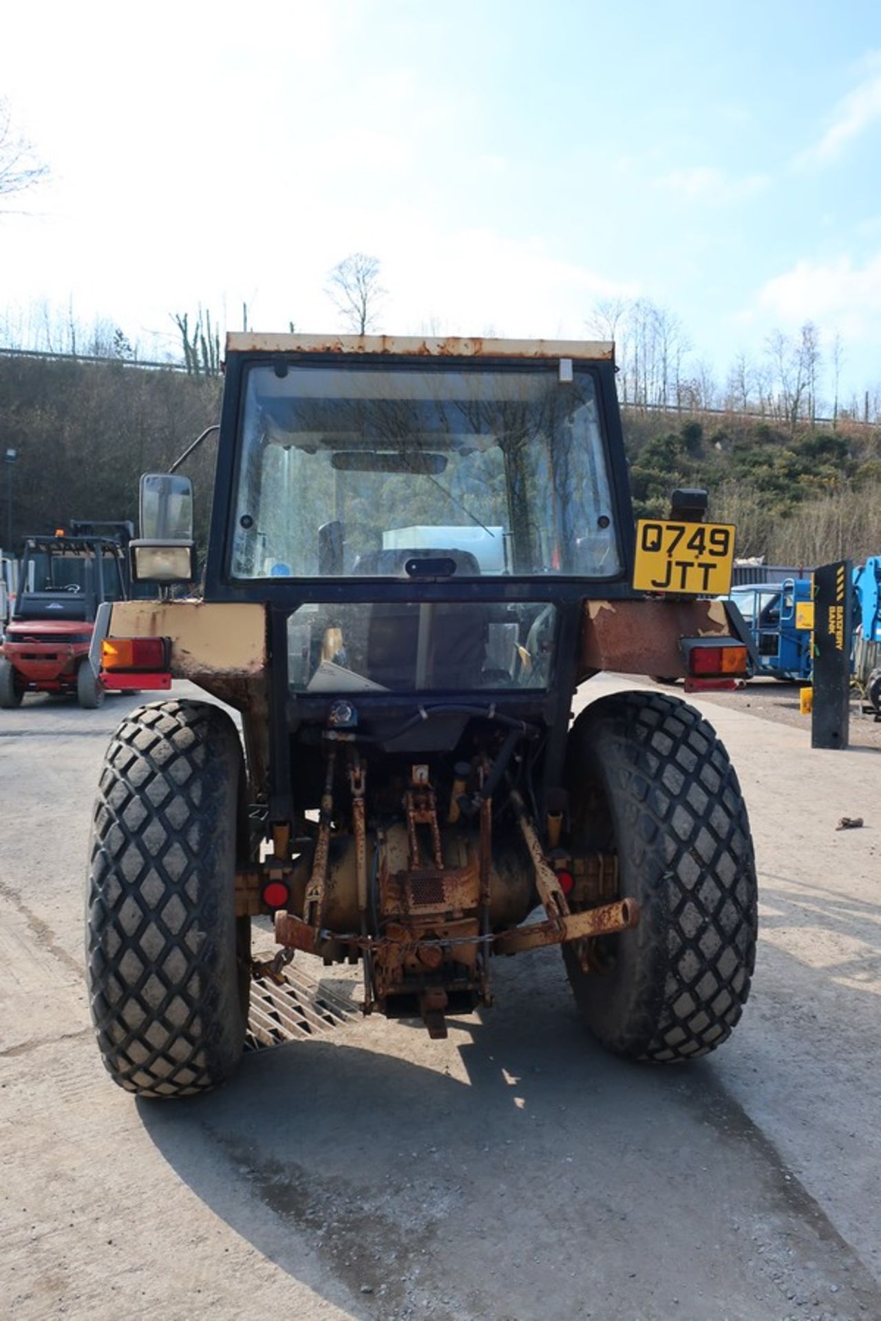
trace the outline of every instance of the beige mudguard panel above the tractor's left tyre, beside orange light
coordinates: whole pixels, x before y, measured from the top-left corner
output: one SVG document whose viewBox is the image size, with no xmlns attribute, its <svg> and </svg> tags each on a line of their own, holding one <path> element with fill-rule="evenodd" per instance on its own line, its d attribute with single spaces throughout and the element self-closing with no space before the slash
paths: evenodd
<svg viewBox="0 0 881 1321">
<path fill-rule="evenodd" d="M 236 601 L 120 601 L 110 617 L 110 638 L 170 638 L 172 674 L 250 679 L 267 662 L 265 610 Z"/>
</svg>

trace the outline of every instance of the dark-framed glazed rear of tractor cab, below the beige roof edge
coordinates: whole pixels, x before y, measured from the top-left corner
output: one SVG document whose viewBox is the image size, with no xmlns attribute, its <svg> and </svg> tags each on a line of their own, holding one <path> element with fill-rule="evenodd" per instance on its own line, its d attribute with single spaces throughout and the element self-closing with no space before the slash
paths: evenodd
<svg viewBox="0 0 881 1321">
<path fill-rule="evenodd" d="M 625 563 L 609 367 L 232 358 L 206 597 L 289 602 L 293 696 L 547 690 L 560 601 Z"/>
</svg>

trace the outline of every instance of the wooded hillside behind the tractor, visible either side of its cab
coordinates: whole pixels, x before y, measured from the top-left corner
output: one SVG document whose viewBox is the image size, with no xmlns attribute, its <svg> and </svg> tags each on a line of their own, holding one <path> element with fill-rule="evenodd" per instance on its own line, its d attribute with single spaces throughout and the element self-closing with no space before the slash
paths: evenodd
<svg viewBox="0 0 881 1321">
<path fill-rule="evenodd" d="M 137 480 L 161 472 L 218 420 L 222 382 L 124 361 L 0 355 L 0 443 L 15 448 L 13 540 L 71 518 L 137 518 Z M 736 411 L 627 407 L 637 514 L 660 515 L 675 486 L 707 486 L 711 517 L 738 528 L 738 553 L 814 564 L 881 553 L 881 428 L 771 424 Z M 205 532 L 214 462 L 188 462 Z M 4 472 L 4 478 L 8 476 Z M 7 528 L 0 489 L 0 536 Z"/>
</svg>

